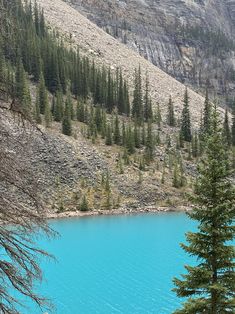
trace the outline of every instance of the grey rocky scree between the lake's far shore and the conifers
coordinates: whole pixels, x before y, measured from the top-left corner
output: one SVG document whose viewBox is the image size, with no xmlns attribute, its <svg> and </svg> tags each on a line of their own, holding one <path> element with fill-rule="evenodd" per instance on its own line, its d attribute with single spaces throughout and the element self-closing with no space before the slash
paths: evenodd
<svg viewBox="0 0 235 314">
<path fill-rule="evenodd" d="M 1 152 L 7 153 L 19 168 L 23 167 L 25 189 L 28 184 L 35 186 L 35 195 L 40 195 L 49 215 L 79 210 L 84 195 L 91 210 L 187 205 L 184 193 L 190 188 L 173 188 L 168 167 L 164 166 L 165 183 L 161 182 L 164 145 L 157 147 L 155 161 L 140 178 L 138 162 L 131 158 L 120 173 L 120 149 L 102 141 L 92 144 L 81 134 L 83 125 L 78 122 L 74 122 L 74 137 L 61 135 L 60 124 L 55 122 L 49 130 L 43 126 L 36 129 L 8 110 L 0 109 L 0 123 Z M 192 163 L 185 164 L 186 176 L 194 171 Z M 102 176 L 107 173 L 109 193 L 102 183 Z M 0 182 L 0 193 L 13 204 L 33 208 L 27 195 L 4 180 Z"/>
</svg>

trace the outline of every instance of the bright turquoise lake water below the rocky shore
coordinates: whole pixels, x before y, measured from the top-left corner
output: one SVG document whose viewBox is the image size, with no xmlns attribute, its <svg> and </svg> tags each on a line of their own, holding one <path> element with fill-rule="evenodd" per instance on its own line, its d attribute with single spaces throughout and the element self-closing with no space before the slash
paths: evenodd
<svg viewBox="0 0 235 314">
<path fill-rule="evenodd" d="M 192 259 L 180 248 L 195 223 L 185 214 L 84 217 L 51 222 L 60 237 L 40 245 L 57 261 L 43 261 L 58 314 L 169 314 L 182 300 L 172 278 Z M 39 314 L 28 309 L 25 313 Z"/>
</svg>

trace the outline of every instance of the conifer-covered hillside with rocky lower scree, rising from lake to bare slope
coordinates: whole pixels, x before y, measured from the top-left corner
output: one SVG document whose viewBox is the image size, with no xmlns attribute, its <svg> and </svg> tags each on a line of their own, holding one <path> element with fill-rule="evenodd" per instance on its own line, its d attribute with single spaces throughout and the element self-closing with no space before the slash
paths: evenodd
<svg viewBox="0 0 235 314">
<path fill-rule="evenodd" d="M 14 152 L 19 163 L 22 157 L 48 209 L 186 205 L 184 194 L 211 130 L 208 96 L 204 111 L 197 112 L 199 126 L 191 118 L 187 88 L 183 110 L 176 114 L 172 95 L 163 115 L 145 68 L 136 64 L 130 84 L 121 67 L 97 64 L 48 28 L 37 3 L 2 4 L 1 149 Z M 23 120 L 14 120 L 11 112 Z M 230 121 L 226 111 L 223 119 L 234 167 L 235 118 Z"/>
</svg>

